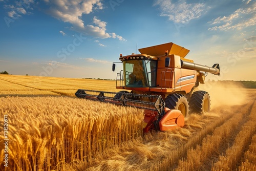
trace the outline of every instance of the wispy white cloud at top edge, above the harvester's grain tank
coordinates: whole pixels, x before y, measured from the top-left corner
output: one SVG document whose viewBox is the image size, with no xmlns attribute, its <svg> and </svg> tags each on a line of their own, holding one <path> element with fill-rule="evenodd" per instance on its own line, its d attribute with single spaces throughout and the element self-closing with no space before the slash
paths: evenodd
<svg viewBox="0 0 256 171">
<path fill-rule="evenodd" d="M 156 0 L 154 6 L 160 6 L 161 16 L 167 16 L 175 23 L 188 23 L 191 19 L 199 18 L 205 9 L 203 3 L 187 4 L 173 3 L 170 0 Z"/>
</svg>

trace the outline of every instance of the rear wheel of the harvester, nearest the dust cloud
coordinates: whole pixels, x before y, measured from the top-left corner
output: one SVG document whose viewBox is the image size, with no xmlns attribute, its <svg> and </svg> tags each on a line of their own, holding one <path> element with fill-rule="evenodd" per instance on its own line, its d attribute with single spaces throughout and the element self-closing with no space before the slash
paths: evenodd
<svg viewBox="0 0 256 171">
<path fill-rule="evenodd" d="M 189 101 L 191 112 L 205 114 L 210 112 L 210 95 L 205 91 L 196 91 L 192 94 Z"/>
</svg>

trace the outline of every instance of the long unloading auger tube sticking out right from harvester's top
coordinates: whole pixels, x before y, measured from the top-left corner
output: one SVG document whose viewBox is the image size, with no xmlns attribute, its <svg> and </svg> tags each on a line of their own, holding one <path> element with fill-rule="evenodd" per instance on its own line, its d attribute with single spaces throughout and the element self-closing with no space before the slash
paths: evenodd
<svg viewBox="0 0 256 171">
<path fill-rule="evenodd" d="M 181 62 L 181 68 L 186 68 L 190 70 L 197 70 L 197 71 L 204 71 L 215 75 L 220 75 L 220 66 L 218 63 L 216 63 L 212 67 L 203 66 L 194 62 L 188 62 L 184 60 L 180 60 Z"/>
</svg>

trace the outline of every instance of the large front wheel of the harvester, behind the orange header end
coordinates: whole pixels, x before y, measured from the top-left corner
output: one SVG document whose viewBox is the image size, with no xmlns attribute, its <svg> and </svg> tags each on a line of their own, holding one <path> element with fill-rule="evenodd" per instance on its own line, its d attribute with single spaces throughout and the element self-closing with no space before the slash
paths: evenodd
<svg viewBox="0 0 256 171">
<path fill-rule="evenodd" d="M 182 94 L 168 95 L 164 100 L 165 107 L 169 109 L 177 109 L 181 111 L 184 117 L 188 116 L 189 105 L 187 98 Z"/>
</svg>

